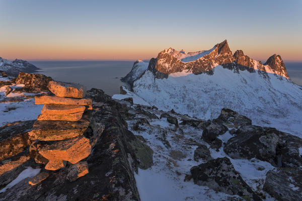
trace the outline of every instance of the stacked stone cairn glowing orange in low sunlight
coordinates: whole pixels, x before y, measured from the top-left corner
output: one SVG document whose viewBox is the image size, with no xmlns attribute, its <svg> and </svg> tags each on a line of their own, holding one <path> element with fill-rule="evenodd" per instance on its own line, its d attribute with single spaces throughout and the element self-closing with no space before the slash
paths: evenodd
<svg viewBox="0 0 302 201">
<path fill-rule="evenodd" d="M 29 181 L 31 185 L 46 179 L 49 176 L 47 170 L 65 167 L 67 162 L 71 163 L 66 176 L 69 181 L 87 174 L 88 164 L 81 160 L 90 155 L 94 143 L 104 130 L 103 125 L 91 125 L 92 100 L 84 98 L 84 86 L 50 81 L 48 88 L 55 96 L 35 97 L 35 104 L 44 104 L 44 107 L 29 132 L 34 140 L 30 153 L 37 163 L 46 164 L 46 171 L 33 177 Z M 87 138 L 84 134 L 89 126 L 93 135 Z"/>
</svg>

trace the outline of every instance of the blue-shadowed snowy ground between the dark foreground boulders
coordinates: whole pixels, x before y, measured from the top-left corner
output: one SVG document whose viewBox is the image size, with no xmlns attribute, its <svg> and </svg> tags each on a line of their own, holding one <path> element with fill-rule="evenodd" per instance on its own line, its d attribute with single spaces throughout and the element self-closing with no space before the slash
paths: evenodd
<svg viewBox="0 0 302 201">
<path fill-rule="evenodd" d="M 179 123 L 180 118 L 178 118 Z M 146 170 L 139 169 L 135 174 L 137 188 L 142 201 L 148 200 L 234 200 L 237 195 L 216 192 L 207 186 L 194 184 L 193 179 L 184 181 L 186 174 L 190 175 L 190 168 L 206 162 L 193 160 L 194 151 L 198 143 L 209 145 L 201 140 L 202 130 L 190 126 L 180 125 L 175 128 L 167 122 L 166 118 L 148 120 L 149 125 L 141 126 L 142 129 L 133 130 L 135 120 L 127 121 L 135 135 L 141 135 L 147 145 L 154 151 L 154 165 Z M 226 142 L 232 135 L 226 132 L 219 138 Z M 212 158 L 229 157 L 223 152 L 223 146 L 217 152 L 210 149 Z M 230 158 L 230 157 L 229 157 Z M 232 159 L 235 169 L 240 172 L 243 179 L 250 187 L 262 192 L 266 200 L 274 200 L 262 190 L 266 173 L 274 167 L 257 159 Z M 259 168 L 261 167 L 261 168 Z M 262 169 L 262 170 L 260 170 Z"/>
</svg>

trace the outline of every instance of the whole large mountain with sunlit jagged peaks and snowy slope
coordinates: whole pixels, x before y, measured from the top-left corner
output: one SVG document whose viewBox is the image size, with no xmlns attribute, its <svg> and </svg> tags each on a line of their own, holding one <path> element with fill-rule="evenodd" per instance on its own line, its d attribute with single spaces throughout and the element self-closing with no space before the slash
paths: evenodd
<svg viewBox="0 0 302 201">
<path fill-rule="evenodd" d="M 279 55 L 262 64 L 242 50 L 233 55 L 225 40 L 208 51 L 163 50 L 139 72 L 130 72 L 132 90 L 161 110 L 213 119 L 230 108 L 253 124 L 301 136 L 302 86 L 289 79 Z"/>
</svg>

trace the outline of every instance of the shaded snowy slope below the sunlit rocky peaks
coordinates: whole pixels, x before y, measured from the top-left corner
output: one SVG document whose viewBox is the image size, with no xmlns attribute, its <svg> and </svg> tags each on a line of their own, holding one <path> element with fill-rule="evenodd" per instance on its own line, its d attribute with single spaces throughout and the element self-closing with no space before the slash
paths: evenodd
<svg viewBox="0 0 302 201">
<path fill-rule="evenodd" d="M 133 90 L 160 110 L 213 119 L 222 108 L 229 108 L 252 119 L 254 125 L 302 137 L 301 86 L 272 73 L 264 77 L 258 70 L 234 73 L 219 65 L 213 70 L 213 75 L 183 72 L 167 79 L 156 79 L 146 71 Z"/>
</svg>

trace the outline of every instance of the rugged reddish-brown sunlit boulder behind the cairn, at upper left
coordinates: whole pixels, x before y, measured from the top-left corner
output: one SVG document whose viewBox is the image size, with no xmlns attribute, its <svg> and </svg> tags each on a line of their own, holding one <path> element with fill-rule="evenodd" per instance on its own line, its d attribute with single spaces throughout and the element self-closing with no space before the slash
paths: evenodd
<svg viewBox="0 0 302 201">
<path fill-rule="evenodd" d="M 43 74 L 20 72 L 18 77 L 11 81 L 16 84 L 24 84 L 23 92 L 39 93 L 42 91 L 49 91 L 47 85 L 52 80 Z"/>
</svg>

